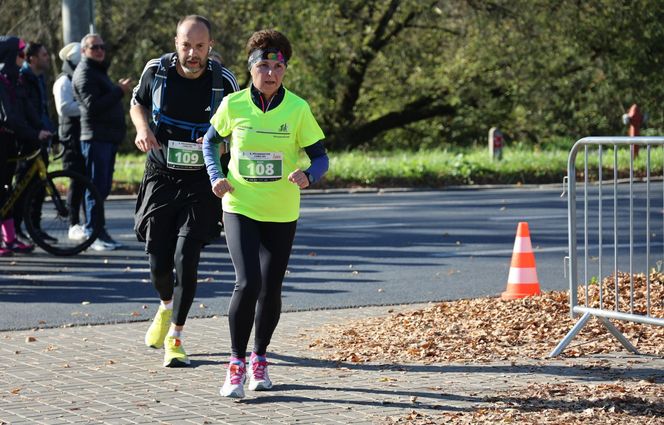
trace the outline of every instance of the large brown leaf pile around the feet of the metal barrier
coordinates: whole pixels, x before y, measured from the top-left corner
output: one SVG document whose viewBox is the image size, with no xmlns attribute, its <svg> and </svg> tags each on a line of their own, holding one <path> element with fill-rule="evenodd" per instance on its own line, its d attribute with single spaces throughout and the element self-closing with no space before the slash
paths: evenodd
<svg viewBox="0 0 664 425">
<path fill-rule="evenodd" d="M 629 275 L 619 274 L 621 288 Z M 664 317 L 664 274 L 650 275 L 651 316 Z M 645 275 L 634 275 L 634 311 L 645 311 Z M 629 291 L 629 283 L 626 285 Z M 602 282 L 604 308 L 612 308 L 613 278 Z M 621 309 L 629 311 L 629 292 L 620 297 Z M 623 301 L 623 298 L 625 301 Z M 599 300 L 599 284 L 589 285 L 589 305 Z M 585 303 L 584 288 L 579 300 Z M 625 304 L 626 303 L 626 304 Z M 625 311 L 625 310 L 623 310 Z M 489 362 L 541 359 L 569 332 L 577 319 L 569 315 L 568 293 L 547 292 L 513 301 L 477 298 L 437 303 L 424 309 L 393 313 L 389 317 L 327 326 L 310 348 L 330 360 L 349 362 L 441 361 Z M 642 353 L 664 356 L 664 327 L 612 321 Z M 622 350 L 620 343 L 595 319 L 563 352 L 581 356 Z"/>
</svg>

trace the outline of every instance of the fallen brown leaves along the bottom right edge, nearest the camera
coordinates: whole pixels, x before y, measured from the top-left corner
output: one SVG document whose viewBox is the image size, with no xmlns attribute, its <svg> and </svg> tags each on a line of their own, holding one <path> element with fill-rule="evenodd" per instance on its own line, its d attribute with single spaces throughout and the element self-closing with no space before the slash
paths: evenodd
<svg viewBox="0 0 664 425">
<path fill-rule="evenodd" d="M 645 381 L 601 385 L 538 384 L 499 393 L 489 407 L 431 413 L 413 410 L 388 424 L 661 424 L 664 386 Z"/>
</svg>

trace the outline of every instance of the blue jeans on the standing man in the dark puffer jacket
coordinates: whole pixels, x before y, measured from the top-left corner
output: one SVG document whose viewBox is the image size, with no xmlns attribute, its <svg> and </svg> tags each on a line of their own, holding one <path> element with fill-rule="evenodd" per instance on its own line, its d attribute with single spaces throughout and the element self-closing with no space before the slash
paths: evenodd
<svg viewBox="0 0 664 425">
<path fill-rule="evenodd" d="M 96 202 L 89 191 L 85 192 L 85 215 L 88 229 L 93 229 L 97 222 L 101 226 L 106 226 L 104 218 L 104 200 L 111 193 L 111 184 L 113 183 L 113 170 L 115 168 L 115 154 L 118 152 L 118 145 L 102 141 L 81 140 L 81 153 L 85 158 L 85 171 L 92 180 L 92 183 L 99 191 L 102 200 L 101 214 L 93 214 Z"/>
</svg>

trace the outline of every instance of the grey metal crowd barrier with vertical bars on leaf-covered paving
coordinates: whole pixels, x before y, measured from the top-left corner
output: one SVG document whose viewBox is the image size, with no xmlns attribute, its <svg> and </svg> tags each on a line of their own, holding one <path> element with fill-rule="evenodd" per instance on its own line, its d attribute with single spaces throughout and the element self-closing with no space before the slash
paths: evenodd
<svg viewBox="0 0 664 425">
<path fill-rule="evenodd" d="M 639 148 L 641 153 L 637 157 L 634 150 Z M 579 153 L 583 158 L 577 158 Z M 661 161 L 657 166 L 653 166 L 651 160 L 655 153 Z M 605 164 L 604 157 L 609 154 L 613 159 Z M 623 164 L 619 158 L 629 161 L 629 176 L 619 175 L 619 164 Z M 645 168 L 645 175 L 638 179 L 641 183 L 635 181 L 637 159 Z M 583 161 L 581 188 L 577 188 L 577 160 Z M 604 179 L 605 170 L 612 174 L 608 180 Z M 596 173 L 592 183 L 590 173 Z M 566 260 L 570 315 L 582 316 L 550 357 L 562 353 L 591 317 L 596 317 L 625 348 L 637 354 L 637 349 L 609 319 L 664 326 L 664 318 L 652 314 L 653 303 L 661 306 L 664 301 L 651 298 L 650 280 L 651 268 L 660 270 L 664 258 L 663 177 L 664 137 L 586 137 L 570 150 L 566 178 L 569 233 Z M 653 189 L 655 184 L 661 187 Z M 578 201 L 577 191 L 581 195 Z M 577 206 L 583 208 L 579 213 Z M 579 222 L 577 218 L 581 217 L 583 220 Z M 607 263 L 609 273 L 604 267 Z M 583 266 L 582 287 L 579 286 L 580 265 Z M 645 291 L 635 291 L 635 276 L 639 276 L 641 286 L 645 280 Z M 635 294 L 638 303 L 635 303 Z"/>
</svg>

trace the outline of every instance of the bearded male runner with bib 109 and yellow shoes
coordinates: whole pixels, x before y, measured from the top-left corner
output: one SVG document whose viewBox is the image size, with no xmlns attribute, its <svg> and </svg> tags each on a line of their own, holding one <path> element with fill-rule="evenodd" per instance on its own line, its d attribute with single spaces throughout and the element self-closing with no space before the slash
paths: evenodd
<svg viewBox="0 0 664 425">
<path fill-rule="evenodd" d="M 176 52 L 147 63 L 131 100 L 135 143 L 148 153 L 134 230 L 145 241 L 161 300 L 145 344 L 164 347 L 165 367 L 189 365 L 182 329 L 196 293 L 201 249 L 220 231 L 221 203 L 211 191 L 201 142 L 221 99 L 239 87 L 228 69 L 208 60 L 211 34 L 206 18 L 182 18 Z"/>
</svg>

